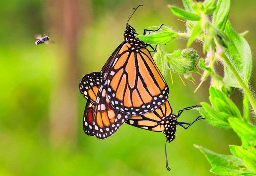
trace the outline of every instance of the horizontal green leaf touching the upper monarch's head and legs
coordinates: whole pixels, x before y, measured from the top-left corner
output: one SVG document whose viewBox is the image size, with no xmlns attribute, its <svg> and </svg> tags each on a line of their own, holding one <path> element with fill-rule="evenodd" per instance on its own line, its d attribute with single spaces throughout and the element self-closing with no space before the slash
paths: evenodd
<svg viewBox="0 0 256 176">
<path fill-rule="evenodd" d="M 160 32 L 151 35 L 136 35 L 140 40 L 148 44 L 167 44 L 177 37 L 175 32 Z"/>
</svg>

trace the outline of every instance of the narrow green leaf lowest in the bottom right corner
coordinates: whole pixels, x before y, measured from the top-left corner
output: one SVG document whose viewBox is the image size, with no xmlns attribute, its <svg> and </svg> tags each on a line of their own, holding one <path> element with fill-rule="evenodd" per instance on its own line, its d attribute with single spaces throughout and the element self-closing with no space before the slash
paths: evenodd
<svg viewBox="0 0 256 176">
<path fill-rule="evenodd" d="M 218 174 L 220 176 L 255 176 L 256 173 L 250 172 L 248 170 L 235 170 L 225 167 L 213 167 L 210 172 Z"/>
</svg>

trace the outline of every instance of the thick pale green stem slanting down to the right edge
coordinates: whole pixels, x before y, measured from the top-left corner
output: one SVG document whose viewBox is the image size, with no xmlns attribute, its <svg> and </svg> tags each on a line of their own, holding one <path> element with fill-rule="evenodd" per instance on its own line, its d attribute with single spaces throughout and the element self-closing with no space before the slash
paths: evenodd
<svg viewBox="0 0 256 176">
<path fill-rule="evenodd" d="M 236 80 L 238 81 L 238 83 L 240 84 L 240 86 L 242 87 L 242 89 L 244 90 L 245 95 L 248 96 L 249 102 L 251 103 L 254 112 L 256 113 L 256 101 L 253 97 L 252 92 L 250 91 L 250 89 L 247 87 L 247 85 L 244 83 L 243 79 L 241 78 L 241 76 L 239 75 L 239 73 L 237 72 L 237 70 L 235 69 L 235 67 L 232 65 L 232 63 L 230 62 L 229 58 L 224 54 L 224 52 L 220 53 L 220 58 L 223 59 L 224 63 L 230 68 L 230 70 L 232 71 L 234 77 L 236 78 Z"/>
</svg>

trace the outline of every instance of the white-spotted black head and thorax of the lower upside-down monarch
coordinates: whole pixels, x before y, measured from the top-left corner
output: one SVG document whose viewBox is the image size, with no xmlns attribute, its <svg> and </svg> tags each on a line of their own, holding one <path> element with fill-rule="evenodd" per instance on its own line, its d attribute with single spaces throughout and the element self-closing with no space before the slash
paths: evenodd
<svg viewBox="0 0 256 176">
<path fill-rule="evenodd" d="M 177 122 L 177 116 L 171 114 L 168 117 L 164 118 L 164 131 L 163 133 L 165 134 L 166 139 L 170 143 L 175 139 L 175 132 L 176 132 L 176 127 L 178 125 Z"/>
</svg>

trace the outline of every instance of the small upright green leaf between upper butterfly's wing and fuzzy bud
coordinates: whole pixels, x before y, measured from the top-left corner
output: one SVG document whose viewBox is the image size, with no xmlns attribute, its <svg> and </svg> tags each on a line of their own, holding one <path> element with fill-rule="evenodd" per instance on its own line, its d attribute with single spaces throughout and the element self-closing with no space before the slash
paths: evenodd
<svg viewBox="0 0 256 176">
<path fill-rule="evenodd" d="M 166 76 L 167 59 L 165 52 L 162 51 L 161 45 L 157 46 L 157 52 L 154 55 L 154 62 L 159 68 L 160 72 L 163 74 L 163 76 Z"/>
</svg>

